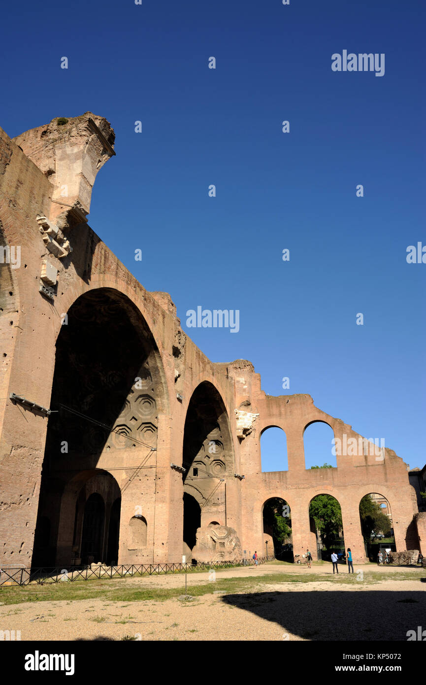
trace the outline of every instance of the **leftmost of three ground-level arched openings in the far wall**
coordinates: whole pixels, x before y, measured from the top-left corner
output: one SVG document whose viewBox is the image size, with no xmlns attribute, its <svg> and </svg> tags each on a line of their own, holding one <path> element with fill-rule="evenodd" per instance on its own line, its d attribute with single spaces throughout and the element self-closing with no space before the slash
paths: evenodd
<svg viewBox="0 0 426 685">
<path fill-rule="evenodd" d="M 293 561 L 290 506 L 281 497 L 271 497 L 262 508 L 264 549 L 262 556 L 275 554 L 281 561 Z"/>
</svg>

